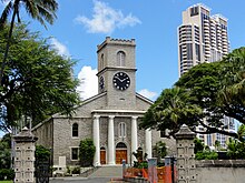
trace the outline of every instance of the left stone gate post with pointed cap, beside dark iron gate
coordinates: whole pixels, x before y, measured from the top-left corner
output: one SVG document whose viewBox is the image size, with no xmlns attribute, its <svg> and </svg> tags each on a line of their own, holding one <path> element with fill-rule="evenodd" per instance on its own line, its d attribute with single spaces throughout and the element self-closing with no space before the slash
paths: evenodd
<svg viewBox="0 0 245 183">
<path fill-rule="evenodd" d="M 37 138 L 27 129 L 13 136 L 16 142 L 14 182 L 35 183 L 35 142 Z"/>
</svg>

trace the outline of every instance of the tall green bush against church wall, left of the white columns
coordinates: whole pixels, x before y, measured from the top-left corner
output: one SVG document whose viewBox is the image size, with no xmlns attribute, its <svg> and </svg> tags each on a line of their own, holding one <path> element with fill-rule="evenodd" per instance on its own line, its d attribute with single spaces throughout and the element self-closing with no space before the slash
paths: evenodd
<svg viewBox="0 0 245 183">
<path fill-rule="evenodd" d="M 96 146 L 94 145 L 92 140 L 91 139 L 81 140 L 79 149 L 80 149 L 79 160 L 81 166 L 91 166 L 96 153 Z"/>
</svg>

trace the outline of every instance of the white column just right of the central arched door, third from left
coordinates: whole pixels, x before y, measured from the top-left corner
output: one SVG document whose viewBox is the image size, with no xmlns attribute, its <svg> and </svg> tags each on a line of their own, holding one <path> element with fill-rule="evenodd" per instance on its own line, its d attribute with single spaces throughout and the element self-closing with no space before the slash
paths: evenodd
<svg viewBox="0 0 245 183">
<path fill-rule="evenodd" d="M 138 116 L 131 116 L 131 153 L 136 152 L 138 148 L 137 118 Z M 136 161 L 136 157 L 131 154 L 131 163 L 134 163 L 134 161 Z"/>
</svg>

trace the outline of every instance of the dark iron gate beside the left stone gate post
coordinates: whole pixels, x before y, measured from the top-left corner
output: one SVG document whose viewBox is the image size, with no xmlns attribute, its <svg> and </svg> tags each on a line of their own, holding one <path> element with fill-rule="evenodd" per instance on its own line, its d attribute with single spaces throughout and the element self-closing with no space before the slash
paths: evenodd
<svg viewBox="0 0 245 183">
<path fill-rule="evenodd" d="M 50 161 L 36 160 L 35 169 L 36 183 L 49 183 Z"/>
</svg>

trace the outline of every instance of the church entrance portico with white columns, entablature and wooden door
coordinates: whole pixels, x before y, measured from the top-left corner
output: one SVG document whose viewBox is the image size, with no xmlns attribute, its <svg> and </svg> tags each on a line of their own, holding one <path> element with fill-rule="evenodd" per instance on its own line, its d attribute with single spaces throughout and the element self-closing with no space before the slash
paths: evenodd
<svg viewBox="0 0 245 183">
<path fill-rule="evenodd" d="M 146 130 L 141 135 L 144 139 L 138 140 L 138 120 L 143 118 L 145 111 L 129 111 L 129 110 L 95 110 L 94 114 L 94 128 L 92 136 L 96 146 L 96 154 L 94 159 L 94 165 L 99 166 L 101 164 L 100 154 L 106 151 L 106 164 L 115 165 L 120 164 L 120 160 L 126 159 L 129 163 L 136 161 L 133 152 L 136 152 L 138 148 L 141 148 L 148 157 L 151 156 L 151 132 Z M 100 119 L 106 119 L 100 121 Z M 107 128 L 107 141 L 104 145 L 100 143 L 100 123 L 105 123 Z M 129 126 L 128 126 L 129 125 Z M 130 131 L 127 131 L 130 129 Z M 140 144 L 145 144 L 140 146 Z"/>
</svg>

